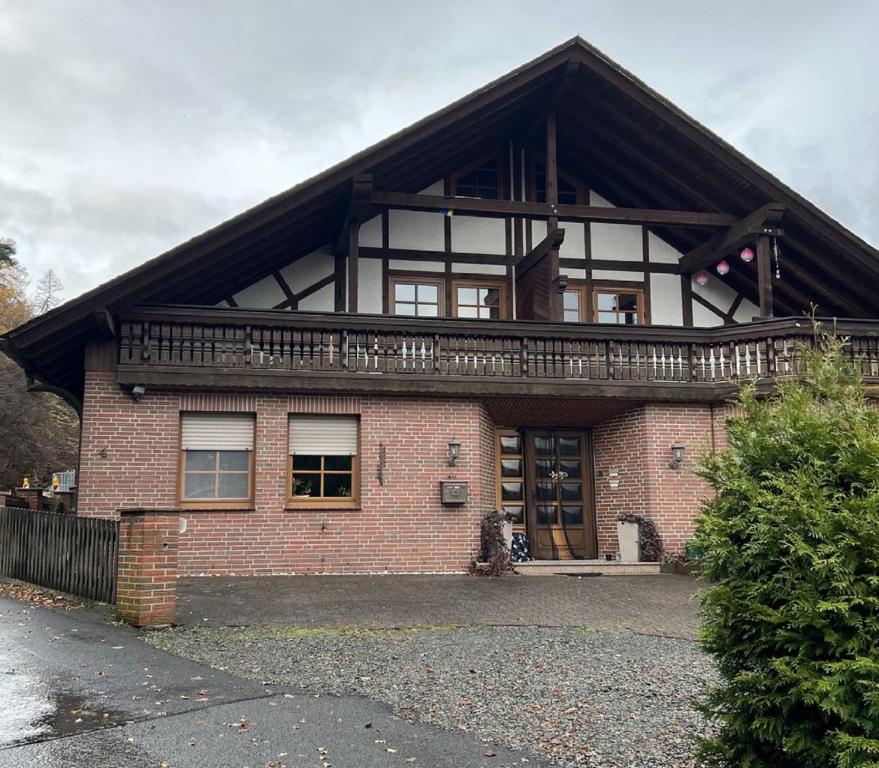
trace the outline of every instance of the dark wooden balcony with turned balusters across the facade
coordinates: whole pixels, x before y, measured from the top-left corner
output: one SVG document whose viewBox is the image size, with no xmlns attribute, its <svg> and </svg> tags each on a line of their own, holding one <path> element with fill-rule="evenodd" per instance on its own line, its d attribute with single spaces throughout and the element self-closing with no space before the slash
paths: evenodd
<svg viewBox="0 0 879 768">
<path fill-rule="evenodd" d="M 879 321 L 837 330 L 879 381 Z M 701 329 L 148 307 L 121 313 L 117 375 L 174 388 L 705 401 L 795 374 L 812 340 L 806 318 Z"/>
</svg>

